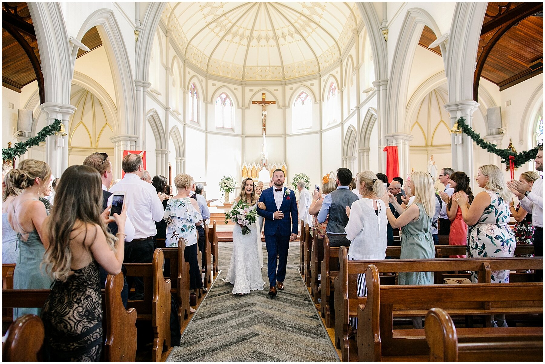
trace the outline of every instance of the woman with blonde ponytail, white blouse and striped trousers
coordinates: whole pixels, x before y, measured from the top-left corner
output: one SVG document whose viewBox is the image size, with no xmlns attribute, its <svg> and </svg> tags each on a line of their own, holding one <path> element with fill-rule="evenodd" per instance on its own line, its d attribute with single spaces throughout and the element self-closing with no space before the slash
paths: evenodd
<svg viewBox="0 0 545 364">
<path fill-rule="evenodd" d="M 386 190 L 381 180 L 372 171 L 359 174 L 359 193 L 362 198 L 347 207 L 348 224 L 344 228 L 346 238 L 350 240 L 349 260 L 384 259 L 386 256 L 386 205 L 380 199 Z M 367 295 L 365 273 L 358 274 L 358 296 Z M 349 336 L 355 334 L 358 319 L 350 318 Z"/>
</svg>

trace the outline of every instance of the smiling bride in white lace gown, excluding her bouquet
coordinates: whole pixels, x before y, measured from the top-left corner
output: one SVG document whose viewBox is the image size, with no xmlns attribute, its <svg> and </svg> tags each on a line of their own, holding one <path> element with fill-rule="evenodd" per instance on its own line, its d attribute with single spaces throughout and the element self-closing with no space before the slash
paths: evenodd
<svg viewBox="0 0 545 364">
<path fill-rule="evenodd" d="M 236 202 L 245 200 L 251 209 L 257 206 L 258 196 L 252 178 L 246 178 L 242 182 L 240 195 Z M 261 207 L 261 206 L 260 206 Z M 259 232 L 259 220 L 249 225 L 250 233 L 242 234 L 242 227 L 235 224 L 233 229 L 233 253 L 227 277 L 223 282 L 231 282 L 233 294 L 245 295 L 256 289 L 263 289 L 263 250 L 261 245 L 261 233 Z"/>
</svg>

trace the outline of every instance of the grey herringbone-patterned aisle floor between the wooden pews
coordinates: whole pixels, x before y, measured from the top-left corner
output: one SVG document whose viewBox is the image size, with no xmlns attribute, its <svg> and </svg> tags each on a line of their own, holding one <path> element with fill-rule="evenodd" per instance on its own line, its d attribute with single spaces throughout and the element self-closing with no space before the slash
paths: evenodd
<svg viewBox="0 0 545 364">
<path fill-rule="evenodd" d="M 224 283 L 233 243 L 220 243 L 219 279 L 191 322 L 181 346 L 168 361 L 338 361 L 299 275 L 299 242 L 290 243 L 284 291 L 271 299 L 263 291 L 231 294 Z M 263 243 L 263 281 L 267 279 L 267 249 Z"/>
</svg>

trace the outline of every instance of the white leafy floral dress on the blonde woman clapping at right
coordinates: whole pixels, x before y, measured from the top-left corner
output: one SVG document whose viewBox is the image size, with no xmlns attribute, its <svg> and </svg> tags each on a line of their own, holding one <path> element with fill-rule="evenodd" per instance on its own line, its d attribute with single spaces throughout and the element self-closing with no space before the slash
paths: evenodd
<svg viewBox="0 0 545 364">
<path fill-rule="evenodd" d="M 496 192 L 486 190 L 490 205 L 485 208 L 477 224 L 469 226 L 468 258 L 512 257 L 516 246 L 514 234 L 507 226 L 509 205 Z M 477 272 L 471 272 L 471 281 L 477 283 Z M 508 270 L 493 270 L 492 283 L 508 283 Z"/>
</svg>

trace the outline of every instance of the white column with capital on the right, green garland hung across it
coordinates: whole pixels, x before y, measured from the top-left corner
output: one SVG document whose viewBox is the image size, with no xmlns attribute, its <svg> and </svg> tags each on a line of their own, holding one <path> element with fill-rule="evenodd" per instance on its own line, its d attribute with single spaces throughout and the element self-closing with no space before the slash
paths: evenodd
<svg viewBox="0 0 545 364">
<path fill-rule="evenodd" d="M 465 124 L 473 125 L 473 113 L 479 107 L 479 103 L 473 100 L 449 102 L 445 104 L 445 110 L 450 114 L 450 126 L 453 127 L 458 118 L 462 117 Z M 452 168 L 455 171 L 464 171 L 473 184 L 473 140 L 468 135 L 451 134 Z"/>
</svg>

